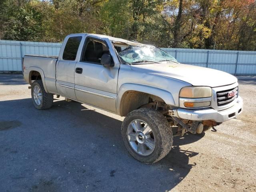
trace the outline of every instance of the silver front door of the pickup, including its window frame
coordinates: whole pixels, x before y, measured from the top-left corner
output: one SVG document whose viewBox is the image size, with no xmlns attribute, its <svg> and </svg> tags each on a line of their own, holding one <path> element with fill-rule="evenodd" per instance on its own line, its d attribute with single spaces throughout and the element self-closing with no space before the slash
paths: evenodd
<svg viewBox="0 0 256 192">
<path fill-rule="evenodd" d="M 113 67 L 106 68 L 100 64 L 103 54 L 112 56 Z M 116 112 L 119 67 L 115 50 L 108 38 L 86 36 L 80 60 L 76 63 L 76 70 L 79 70 L 74 75 L 77 100 Z"/>
</svg>

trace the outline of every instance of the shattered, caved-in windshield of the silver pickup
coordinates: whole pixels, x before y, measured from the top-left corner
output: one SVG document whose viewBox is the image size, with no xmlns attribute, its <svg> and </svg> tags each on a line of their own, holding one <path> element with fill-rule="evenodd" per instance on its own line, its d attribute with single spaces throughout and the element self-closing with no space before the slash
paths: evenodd
<svg viewBox="0 0 256 192">
<path fill-rule="evenodd" d="M 118 52 L 118 55 L 127 63 L 161 62 L 177 60 L 164 50 L 152 45 L 129 46 Z"/>
</svg>

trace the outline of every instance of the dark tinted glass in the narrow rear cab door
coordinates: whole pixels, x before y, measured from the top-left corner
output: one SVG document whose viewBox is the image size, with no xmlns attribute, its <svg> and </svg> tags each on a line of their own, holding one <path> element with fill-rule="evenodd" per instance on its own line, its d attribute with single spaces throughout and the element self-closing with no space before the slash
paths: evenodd
<svg viewBox="0 0 256 192">
<path fill-rule="evenodd" d="M 82 40 L 82 36 L 68 38 L 68 41 L 66 43 L 63 56 L 62 56 L 64 60 L 74 61 L 76 59 L 77 50 L 81 40 Z"/>
</svg>

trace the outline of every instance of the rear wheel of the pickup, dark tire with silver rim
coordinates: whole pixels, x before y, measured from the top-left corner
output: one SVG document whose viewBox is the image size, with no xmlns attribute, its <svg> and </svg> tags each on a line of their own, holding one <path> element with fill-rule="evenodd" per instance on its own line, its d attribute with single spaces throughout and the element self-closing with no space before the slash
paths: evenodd
<svg viewBox="0 0 256 192">
<path fill-rule="evenodd" d="M 38 94 L 36 94 L 37 92 Z M 39 110 L 48 109 L 52 106 L 53 94 L 45 92 L 42 80 L 36 80 L 32 83 L 31 97 L 35 108 Z"/>
</svg>

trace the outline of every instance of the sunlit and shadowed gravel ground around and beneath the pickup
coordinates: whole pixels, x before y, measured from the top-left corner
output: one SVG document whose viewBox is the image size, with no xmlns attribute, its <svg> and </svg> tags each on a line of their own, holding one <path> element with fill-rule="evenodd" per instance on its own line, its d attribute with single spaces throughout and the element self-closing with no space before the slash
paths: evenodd
<svg viewBox="0 0 256 192">
<path fill-rule="evenodd" d="M 124 148 L 123 118 L 64 98 L 36 110 L 22 75 L 0 74 L 0 192 L 256 191 L 256 77 L 239 83 L 237 119 L 146 165 Z"/>
</svg>

